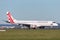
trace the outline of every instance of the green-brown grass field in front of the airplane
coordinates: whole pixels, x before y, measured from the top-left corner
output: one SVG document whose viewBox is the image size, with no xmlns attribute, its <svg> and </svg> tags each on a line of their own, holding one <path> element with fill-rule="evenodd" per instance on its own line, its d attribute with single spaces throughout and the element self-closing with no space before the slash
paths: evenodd
<svg viewBox="0 0 60 40">
<path fill-rule="evenodd" d="M 0 32 L 0 40 L 60 40 L 60 29 L 9 29 Z"/>
</svg>

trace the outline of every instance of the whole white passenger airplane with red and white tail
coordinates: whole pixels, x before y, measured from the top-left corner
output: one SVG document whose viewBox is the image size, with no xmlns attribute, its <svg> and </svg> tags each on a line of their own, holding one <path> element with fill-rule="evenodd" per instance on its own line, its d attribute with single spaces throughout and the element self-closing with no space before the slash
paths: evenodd
<svg viewBox="0 0 60 40">
<path fill-rule="evenodd" d="M 19 26 L 26 26 L 28 28 L 45 28 L 46 26 L 58 26 L 55 21 L 29 21 L 29 20 L 16 20 L 13 18 L 10 12 L 7 12 L 7 23 L 17 24 Z"/>
</svg>

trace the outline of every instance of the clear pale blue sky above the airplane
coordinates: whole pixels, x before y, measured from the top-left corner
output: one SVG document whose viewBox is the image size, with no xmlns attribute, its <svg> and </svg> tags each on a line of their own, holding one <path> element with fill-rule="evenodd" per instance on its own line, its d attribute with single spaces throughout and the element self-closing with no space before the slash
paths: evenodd
<svg viewBox="0 0 60 40">
<path fill-rule="evenodd" d="M 0 0 L 0 23 L 7 20 L 7 11 L 18 20 L 60 22 L 60 0 Z"/>
</svg>

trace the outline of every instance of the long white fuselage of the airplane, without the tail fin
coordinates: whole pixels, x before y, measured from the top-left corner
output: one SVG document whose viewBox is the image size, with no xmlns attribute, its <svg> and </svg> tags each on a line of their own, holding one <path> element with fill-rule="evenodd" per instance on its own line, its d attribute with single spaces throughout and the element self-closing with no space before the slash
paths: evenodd
<svg viewBox="0 0 60 40">
<path fill-rule="evenodd" d="M 30 24 L 31 27 L 40 27 L 40 26 L 58 26 L 58 24 L 54 21 L 17 21 L 15 23 L 19 24 Z"/>
</svg>

